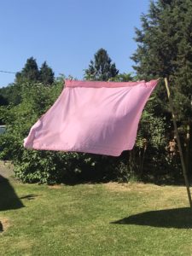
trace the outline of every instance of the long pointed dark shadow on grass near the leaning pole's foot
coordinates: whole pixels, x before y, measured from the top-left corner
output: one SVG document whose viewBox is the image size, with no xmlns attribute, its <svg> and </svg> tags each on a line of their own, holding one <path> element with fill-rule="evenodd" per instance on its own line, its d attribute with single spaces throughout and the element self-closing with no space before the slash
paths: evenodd
<svg viewBox="0 0 192 256">
<path fill-rule="evenodd" d="M 178 208 L 142 212 L 119 219 L 111 224 L 135 224 L 160 228 L 191 229 L 192 211 L 190 208 Z"/>
</svg>

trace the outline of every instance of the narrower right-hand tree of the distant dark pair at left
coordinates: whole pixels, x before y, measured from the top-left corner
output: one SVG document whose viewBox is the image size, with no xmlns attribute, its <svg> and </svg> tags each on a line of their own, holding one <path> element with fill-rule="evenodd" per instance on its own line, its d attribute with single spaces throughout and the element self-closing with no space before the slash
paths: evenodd
<svg viewBox="0 0 192 256">
<path fill-rule="evenodd" d="M 47 65 L 46 61 L 42 64 L 39 70 L 39 80 L 44 85 L 50 85 L 54 82 L 54 72 Z"/>
</svg>

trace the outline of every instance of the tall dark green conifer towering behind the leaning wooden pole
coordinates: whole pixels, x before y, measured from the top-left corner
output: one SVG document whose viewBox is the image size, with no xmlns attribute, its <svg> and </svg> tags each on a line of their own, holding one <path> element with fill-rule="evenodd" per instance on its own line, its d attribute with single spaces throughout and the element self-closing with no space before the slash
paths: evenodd
<svg viewBox="0 0 192 256">
<path fill-rule="evenodd" d="M 140 79 L 166 77 L 169 80 L 179 129 L 184 133 L 188 127 L 188 133 L 191 133 L 188 142 L 190 149 L 186 150 L 192 157 L 191 12 L 190 0 L 151 2 L 148 14 L 141 17 L 142 29 L 136 30 L 137 50 L 131 58 L 136 62 L 134 68 Z M 157 96 L 161 101 L 161 109 L 165 108 L 165 87 L 159 86 Z"/>
</svg>

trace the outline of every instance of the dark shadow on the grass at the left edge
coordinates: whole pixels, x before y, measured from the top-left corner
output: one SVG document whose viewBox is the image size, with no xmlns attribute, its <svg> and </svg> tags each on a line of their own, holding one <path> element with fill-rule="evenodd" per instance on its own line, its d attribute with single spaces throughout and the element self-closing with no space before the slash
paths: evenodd
<svg viewBox="0 0 192 256">
<path fill-rule="evenodd" d="M 0 211 L 24 207 L 9 180 L 0 175 Z"/>
</svg>

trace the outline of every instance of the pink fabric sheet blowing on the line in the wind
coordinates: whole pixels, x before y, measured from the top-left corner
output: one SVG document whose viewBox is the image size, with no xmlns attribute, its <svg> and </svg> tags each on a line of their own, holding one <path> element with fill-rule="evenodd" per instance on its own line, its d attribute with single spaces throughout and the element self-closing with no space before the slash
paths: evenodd
<svg viewBox="0 0 192 256">
<path fill-rule="evenodd" d="M 66 88 L 24 141 L 26 148 L 118 156 L 133 148 L 145 103 L 157 80 L 66 80 Z"/>
</svg>

